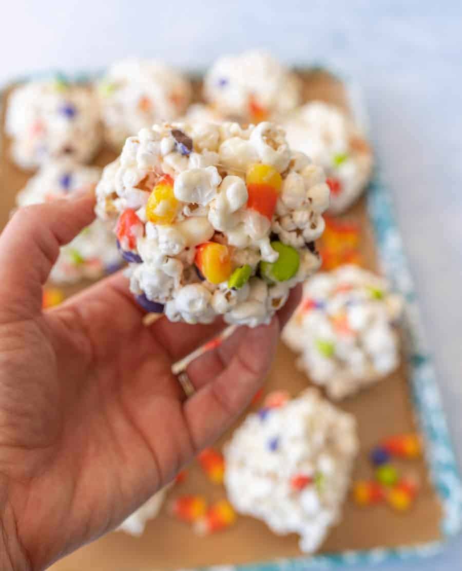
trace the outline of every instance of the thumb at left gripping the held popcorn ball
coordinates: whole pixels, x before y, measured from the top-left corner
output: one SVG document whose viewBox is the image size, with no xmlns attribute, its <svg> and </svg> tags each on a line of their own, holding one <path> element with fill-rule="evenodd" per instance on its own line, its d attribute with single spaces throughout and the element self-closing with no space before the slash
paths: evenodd
<svg viewBox="0 0 462 571">
<path fill-rule="evenodd" d="M 92 190 L 68 199 L 19 208 L 0 235 L 0 320 L 23 319 L 42 309 L 42 286 L 71 242 L 94 220 Z"/>
</svg>

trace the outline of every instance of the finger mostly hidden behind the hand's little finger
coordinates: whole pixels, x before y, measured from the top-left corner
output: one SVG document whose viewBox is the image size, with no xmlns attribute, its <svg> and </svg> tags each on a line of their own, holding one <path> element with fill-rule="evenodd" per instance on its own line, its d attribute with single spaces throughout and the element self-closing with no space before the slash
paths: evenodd
<svg viewBox="0 0 462 571">
<path fill-rule="evenodd" d="M 300 303 L 301 295 L 302 286 L 299 284 L 292 289 L 285 305 L 277 312 L 281 331 Z M 245 328 L 239 327 L 218 347 L 206 351 L 203 355 L 189 363 L 187 368 L 188 377 L 196 390 L 209 383 L 228 367 L 244 334 Z"/>
</svg>

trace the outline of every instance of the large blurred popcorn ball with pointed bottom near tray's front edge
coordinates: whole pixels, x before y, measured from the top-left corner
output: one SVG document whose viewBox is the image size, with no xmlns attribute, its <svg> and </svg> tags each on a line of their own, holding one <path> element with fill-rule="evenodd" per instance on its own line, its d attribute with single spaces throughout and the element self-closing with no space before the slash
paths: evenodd
<svg viewBox="0 0 462 571">
<path fill-rule="evenodd" d="M 314 552 L 341 516 L 357 451 L 354 417 L 307 390 L 234 432 L 224 451 L 229 501 Z"/>
</svg>

